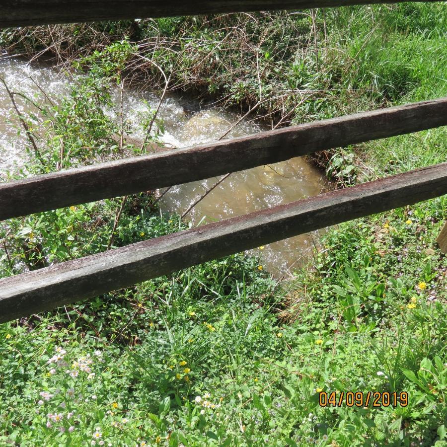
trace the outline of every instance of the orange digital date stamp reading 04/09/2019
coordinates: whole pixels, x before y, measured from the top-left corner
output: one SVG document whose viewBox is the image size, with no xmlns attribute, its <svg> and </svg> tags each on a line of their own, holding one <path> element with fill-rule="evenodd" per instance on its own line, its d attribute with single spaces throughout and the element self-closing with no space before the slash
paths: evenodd
<svg viewBox="0 0 447 447">
<path fill-rule="evenodd" d="M 408 393 L 402 391 L 400 393 L 389 393 L 388 391 L 368 391 L 363 393 L 361 391 L 321 391 L 319 393 L 319 404 L 321 407 L 368 407 L 370 404 L 373 408 L 395 407 L 397 404 L 402 407 L 408 405 Z"/>
</svg>

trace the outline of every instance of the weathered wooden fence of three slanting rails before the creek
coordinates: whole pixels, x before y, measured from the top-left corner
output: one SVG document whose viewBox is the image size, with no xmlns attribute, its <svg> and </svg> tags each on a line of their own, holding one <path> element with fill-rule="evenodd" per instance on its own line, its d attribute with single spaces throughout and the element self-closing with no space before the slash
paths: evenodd
<svg viewBox="0 0 447 447">
<path fill-rule="evenodd" d="M 382 1 L 10 0 L 1 5 L 0 27 L 378 2 Z M 447 97 L 1 183 L 0 220 L 446 125 Z M 1 279 L 0 323 L 444 194 L 447 163 Z"/>
</svg>

